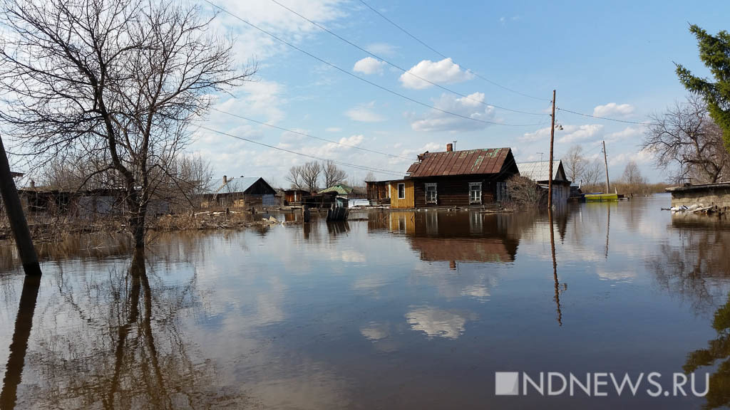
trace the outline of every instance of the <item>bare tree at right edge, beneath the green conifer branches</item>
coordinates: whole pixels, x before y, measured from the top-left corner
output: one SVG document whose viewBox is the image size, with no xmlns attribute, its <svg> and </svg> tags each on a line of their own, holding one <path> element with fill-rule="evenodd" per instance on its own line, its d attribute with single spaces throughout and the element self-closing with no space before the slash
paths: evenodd
<svg viewBox="0 0 730 410">
<path fill-rule="evenodd" d="M 654 124 L 646 132 L 643 147 L 654 153 L 657 166 L 677 167 L 672 177 L 689 175 L 701 182 L 718 182 L 727 176 L 730 155 L 702 98 L 690 95 L 650 119 Z"/>
</svg>

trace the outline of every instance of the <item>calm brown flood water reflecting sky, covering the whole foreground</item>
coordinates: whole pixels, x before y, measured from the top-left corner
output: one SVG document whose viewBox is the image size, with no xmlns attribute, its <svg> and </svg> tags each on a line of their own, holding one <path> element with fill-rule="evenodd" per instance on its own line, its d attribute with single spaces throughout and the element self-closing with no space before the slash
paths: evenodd
<svg viewBox="0 0 730 410">
<path fill-rule="evenodd" d="M 134 257 L 125 241 L 78 238 L 44 247 L 39 288 L 4 244 L 0 404 L 726 406 L 730 223 L 668 205 L 576 204 L 553 213 L 552 242 L 547 213 L 465 211 L 165 234 Z M 607 397 L 497 396 L 496 371 L 658 372 L 665 388 L 695 371 L 710 391 L 618 396 L 609 380 Z"/>
</svg>

